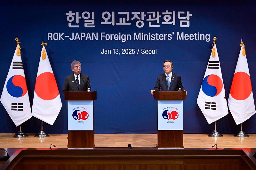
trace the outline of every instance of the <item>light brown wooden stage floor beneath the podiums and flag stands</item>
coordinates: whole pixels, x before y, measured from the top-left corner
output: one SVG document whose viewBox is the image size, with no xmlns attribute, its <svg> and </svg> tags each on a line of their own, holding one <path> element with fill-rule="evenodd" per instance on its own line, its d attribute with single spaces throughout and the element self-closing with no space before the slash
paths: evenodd
<svg viewBox="0 0 256 170">
<path fill-rule="evenodd" d="M 26 138 L 14 138 L 13 134 L 0 134 L 0 148 L 67 148 L 67 134 L 50 134 L 50 137 L 37 138 L 28 134 Z M 250 137 L 234 137 L 233 134 L 222 134 L 223 137 L 208 137 L 207 134 L 184 134 L 184 148 L 210 148 L 213 144 L 218 148 L 256 148 L 256 134 Z M 95 134 L 96 147 L 155 147 L 156 134 Z"/>
</svg>

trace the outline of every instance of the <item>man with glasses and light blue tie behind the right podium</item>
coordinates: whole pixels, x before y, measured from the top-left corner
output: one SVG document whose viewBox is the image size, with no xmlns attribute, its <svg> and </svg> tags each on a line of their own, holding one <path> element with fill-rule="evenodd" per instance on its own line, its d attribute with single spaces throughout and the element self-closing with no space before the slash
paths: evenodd
<svg viewBox="0 0 256 170">
<path fill-rule="evenodd" d="M 155 91 L 178 91 L 179 88 L 181 91 L 185 91 L 179 74 L 173 73 L 173 64 L 171 60 L 165 60 L 163 63 L 164 72 L 163 74 L 158 75 L 156 79 L 156 85 L 151 94 L 154 95 Z M 187 92 L 188 93 L 188 92 Z"/>
</svg>

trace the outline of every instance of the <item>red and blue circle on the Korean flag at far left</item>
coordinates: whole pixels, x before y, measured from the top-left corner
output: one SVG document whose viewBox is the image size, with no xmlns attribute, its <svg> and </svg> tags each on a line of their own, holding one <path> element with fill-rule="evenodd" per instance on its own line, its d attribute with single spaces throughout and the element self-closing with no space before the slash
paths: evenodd
<svg viewBox="0 0 256 170">
<path fill-rule="evenodd" d="M 12 76 L 7 81 L 6 89 L 12 97 L 24 96 L 28 92 L 25 77 L 21 75 Z"/>
</svg>

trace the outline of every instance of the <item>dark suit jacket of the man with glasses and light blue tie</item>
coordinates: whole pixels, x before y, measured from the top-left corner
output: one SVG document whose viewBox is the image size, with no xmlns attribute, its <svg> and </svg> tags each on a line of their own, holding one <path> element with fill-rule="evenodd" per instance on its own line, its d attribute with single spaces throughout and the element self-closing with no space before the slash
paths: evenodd
<svg viewBox="0 0 256 170">
<path fill-rule="evenodd" d="M 168 89 L 167 86 L 167 81 L 166 81 L 166 77 L 165 77 L 165 73 L 164 74 L 160 74 L 158 75 L 157 79 L 156 79 L 156 85 L 154 87 L 155 91 L 178 91 L 179 88 L 184 91 L 184 87 L 181 83 L 181 78 L 179 74 L 176 73 L 172 73 L 172 78 L 171 78 L 171 83 L 170 83 L 170 88 Z"/>
</svg>

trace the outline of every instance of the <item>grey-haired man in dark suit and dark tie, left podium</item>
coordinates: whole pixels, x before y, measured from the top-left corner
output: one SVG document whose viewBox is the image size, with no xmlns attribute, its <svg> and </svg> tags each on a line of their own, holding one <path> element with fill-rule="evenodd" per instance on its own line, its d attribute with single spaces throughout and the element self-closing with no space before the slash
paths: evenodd
<svg viewBox="0 0 256 170">
<path fill-rule="evenodd" d="M 85 74 L 81 74 L 81 63 L 79 61 L 74 60 L 71 63 L 71 70 L 74 73 L 65 78 L 62 91 L 84 92 L 88 89 L 91 90 L 90 78 Z"/>
</svg>

